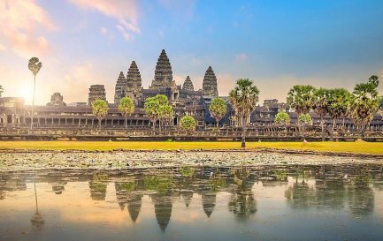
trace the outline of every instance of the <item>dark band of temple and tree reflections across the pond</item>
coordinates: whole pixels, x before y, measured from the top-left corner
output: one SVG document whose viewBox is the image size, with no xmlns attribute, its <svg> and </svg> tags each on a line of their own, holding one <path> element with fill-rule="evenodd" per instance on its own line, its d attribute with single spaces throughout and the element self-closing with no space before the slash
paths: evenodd
<svg viewBox="0 0 383 241">
<path fill-rule="evenodd" d="M 160 230 L 172 224 L 174 202 L 189 207 L 194 195 L 196 205 L 204 218 L 214 217 L 217 212 L 219 193 L 228 195 L 226 210 L 237 221 L 246 221 L 257 214 L 257 186 L 265 188 L 280 186 L 287 207 L 292 209 L 334 208 L 346 209 L 352 215 L 370 215 L 374 210 L 375 190 L 383 189 L 382 173 L 372 172 L 372 167 L 347 169 L 344 167 L 257 167 L 257 168 L 188 168 L 155 169 L 143 171 L 88 171 L 60 173 L 40 171 L 39 175 L 5 173 L 0 177 L 0 202 L 7 192 L 27 190 L 27 183 L 48 183 L 55 193 L 65 191 L 65 184 L 73 181 L 88 185 L 92 200 L 105 200 L 107 187 L 115 187 L 116 207 L 128 212 L 132 222 L 137 222 L 144 205 L 144 195 L 151 199 L 154 215 Z M 380 167 L 379 167 L 380 168 Z M 65 176 L 66 175 L 66 176 Z M 257 184 L 257 186 L 254 186 Z M 29 186 L 29 185 L 28 185 Z M 65 191 L 70 192 L 70 191 Z M 60 197 L 57 197 L 60 198 Z M 126 211 L 125 211 L 126 210 Z M 31 222 L 38 227 L 43 222 L 36 212 Z M 42 226 L 42 225 L 41 225 Z"/>
</svg>

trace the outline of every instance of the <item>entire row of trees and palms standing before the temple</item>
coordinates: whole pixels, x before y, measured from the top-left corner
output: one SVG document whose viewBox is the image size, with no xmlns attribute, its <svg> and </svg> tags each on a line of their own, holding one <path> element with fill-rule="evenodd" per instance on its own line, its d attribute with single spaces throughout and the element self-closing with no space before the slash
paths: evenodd
<svg viewBox="0 0 383 241">
<path fill-rule="evenodd" d="M 35 77 L 42 68 L 42 62 L 37 57 L 32 57 L 28 62 L 28 69 Z M 366 127 L 372 121 L 379 108 L 383 108 L 383 96 L 379 96 L 379 77 L 372 75 L 366 82 L 356 84 L 352 92 L 345 88 L 323 88 L 310 85 L 295 85 L 287 93 L 287 105 L 294 109 L 298 114 L 298 124 L 304 126 L 312 124 L 310 111 L 314 110 L 320 117 L 322 139 L 325 140 L 325 122 L 324 117 L 328 114 L 333 119 L 331 139 L 333 139 L 336 120 L 350 118 L 356 125 L 357 131 L 364 137 Z M 0 97 L 4 89 L 0 86 Z M 233 117 L 236 118 L 242 127 L 241 147 L 245 147 L 246 128 L 249 123 L 251 113 L 256 109 L 259 100 L 259 89 L 250 79 L 238 79 L 235 87 L 229 93 L 229 102 L 233 107 Z M 96 100 L 92 103 L 92 112 L 97 117 L 99 128 L 101 121 L 106 117 L 109 107 L 107 102 Z M 158 123 L 159 130 L 162 126 L 171 124 L 174 118 L 174 109 L 164 94 L 157 94 L 149 97 L 144 103 L 145 114 L 149 117 L 153 130 Z M 211 117 L 219 121 L 226 116 L 226 102 L 221 98 L 213 98 L 209 106 Z M 125 117 L 125 126 L 127 127 L 127 118 L 134 113 L 134 102 L 129 97 L 124 97 L 119 101 L 119 112 Z M 31 129 L 33 128 L 34 116 L 34 98 L 31 113 Z M 275 117 L 276 124 L 289 124 L 290 117 L 287 112 L 282 111 Z M 184 116 L 180 119 L 180 127 L 186 131 L 195 130 L 195 118 Z"/>
</svg>

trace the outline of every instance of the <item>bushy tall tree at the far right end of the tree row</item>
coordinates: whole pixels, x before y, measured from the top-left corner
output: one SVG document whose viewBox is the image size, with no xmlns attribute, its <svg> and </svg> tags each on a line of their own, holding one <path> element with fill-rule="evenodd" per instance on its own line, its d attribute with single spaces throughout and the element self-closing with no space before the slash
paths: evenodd
<svg viewBox="0 0 383 241">
<path fill-rule="evenodd" d="M 379 79 L 372 75 L 366 83 L 357 84 L 352 93 L 350 114 L 362 137 L 367 125 L 379 109 L 378 87 Z"/>
</svg>

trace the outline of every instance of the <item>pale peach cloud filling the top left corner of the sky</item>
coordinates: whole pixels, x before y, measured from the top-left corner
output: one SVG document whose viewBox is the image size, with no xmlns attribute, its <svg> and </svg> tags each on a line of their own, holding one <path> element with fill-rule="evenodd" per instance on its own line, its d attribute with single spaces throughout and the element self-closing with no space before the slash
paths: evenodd
<svg viewBox="0 0 383 241">
<path fill-rule="evenodd" d="M 50 16 L 34 0 L 0 2 L 0 28 L 11 49 L 19 56 L 42 56 L 50 53 L 50 43 L 37 30 L 57 30 Z"/>
</svg>

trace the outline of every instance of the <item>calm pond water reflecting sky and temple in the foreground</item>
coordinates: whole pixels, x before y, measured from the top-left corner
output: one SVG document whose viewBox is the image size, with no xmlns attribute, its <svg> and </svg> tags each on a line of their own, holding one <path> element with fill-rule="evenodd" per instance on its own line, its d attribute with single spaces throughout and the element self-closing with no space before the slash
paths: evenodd
<svg viewBox="0 0 383 241">
<path fill-rule="evenodd" d="M 383 240 L 377 165 L 0 177 L 0 240 Z"/>
</svg>

